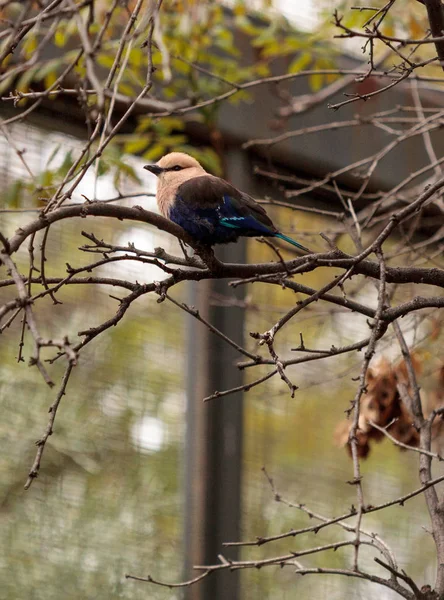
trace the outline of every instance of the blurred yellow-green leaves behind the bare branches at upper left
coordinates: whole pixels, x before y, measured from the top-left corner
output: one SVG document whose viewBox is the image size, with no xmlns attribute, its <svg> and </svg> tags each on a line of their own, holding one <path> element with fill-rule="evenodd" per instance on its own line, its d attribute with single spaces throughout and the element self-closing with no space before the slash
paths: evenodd
<svg viewBox="0 0 444 600">
<path fill-rule="evenodd" d="M 93 55 L 96 74 L 102 86 L 105 86 L 110 71 L 116 67 L 123 26 L 128 19 L 128 10 L 135 3 L 125 4 L 127 6 L 118 6 L 114 10 L 106 30 L 101 31 L 99 24 L 106 17 L 109 3 L 94 3 L 95 19 L 89 23 L 88 32 L 92 45 L 97 36 L 102 35 L 101 43 Z M 6 7 L 7 17 L 12 18 L 15 14 L 15 5 L 16 3 L 12 3 Z M 81 14 L 85 22 L 88 22 L 87 6 L 82 9 Z M 45 35 L 49 36 L 49 50 L 47 47 L 40 53 L 39 44 Z M 127 63 L 119 72 L 117 91 L 128 99 L 136 98 L 145 84 L 148 68 L 148 54 L 143 47 L 145 37 L 146 29 L 142 27 L 131 47 Z M 155 72 L 150 93 L 159 100 L 173 103 L 189 100 L 199 104 L 232 90 L 233 85 L 276 74 L 274 66 L 277 61 L 281 61 L 279 73 L 282 74 L 308 68 L 332 68 L 335 51 L 332 51 L 331 46 L 320 43 L 322 41 L 322 32 L 308 34 L 298 31 L 289 21 L 272 11 L 267 2 L 264 2 L 263 10 L 257 12 L 248 10 L 241 0 L 237 0 L 231 10 L 219 2 L 165 2 L 154 36 L 152 60 Z M 248 56 L 245 56 L 246 43 L 251 48 Z M 0 94 L 6 96 L 10 92 L 28 93 L 49 88 L 57 92 L 57 78 L 73 63 L 74 67 L 62 85 L 67 88 L 83 85 L 87 70 L 85 55 L 78 58 L 80 48 L 74 17 L 60 19 L 52 32 L 47 32 L 45 28 L 31 29 L 19 45 L 14 58 L 8 56 L 4 62 L 6 73 L 0 78 Z M 28 66 L 17 69 L 16 65 L 20 63 Z M 309 78 L 309 84 L 316 91 L 334 77 L 313 74 Z M 54 99 L 55 96 L 49 98 Z M 249 102 L 251 95 L 245 90 L 237 91 L 227 101 Z M 28 108 L 32 102 L 32 98 L 24 97 L 16 101 L 16 107 Z M 87 112 L 94 109 L 96 102 L 95 94 L 81 97 L 81 103 Z M 106 107 L 109 102 L 110 99 L 106 99 Z M 137 176 L 125 164 L 125 154 L 137 154 L 146 160 L 156 161 L 168 151 L 178 150 L 192 154 L 210 172 L 221 175 L 222 164 L 217 148 L 191 146 L 186 133 L 186 125 L 190 121 L 197 121 L 214 131 L 219 108 L 220 103 L 216 102 L 183 116 L 157 118 L 155 114 L 138 115 L 132 131 L 117 135 L 105 149 L 99 161 L 100 173 L 112 169 L 116 182 L 122 174 L 136 179 Z M 93 144 L 92 150 L 95 147 L 96 144 Z M 40 174 L 38 193 L 34 195 L 36 205 L 41 204 L 39 198 L 51 197 L 72 166 L 72 156 L 63 147 L 57 150 L 56 155 L 59 166 L 54 168 L 50 162 Z M 87 159 L 88 153 L 75 173 L 80 171 Z M 26 181 L 13 183 L 4 196 L 6 205 L 11 208 L 21 206 L 23 193 L 31 189 Z"/>
</svg>

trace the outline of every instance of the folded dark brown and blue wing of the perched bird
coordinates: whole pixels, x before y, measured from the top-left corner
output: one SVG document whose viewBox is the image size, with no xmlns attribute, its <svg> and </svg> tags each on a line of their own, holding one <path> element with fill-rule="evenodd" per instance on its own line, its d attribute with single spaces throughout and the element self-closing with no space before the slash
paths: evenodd
<svg viewBox="0 0 444 600">
<path fill-rule="evenodd" d="M 254 229 L 262 233 L 276 231 L 260 204 L 220 177 L 193 177 L 179 186 L 177 195 L 196 210 L 214 209 L 220 223 L 227 227 Z"/>
</svg>

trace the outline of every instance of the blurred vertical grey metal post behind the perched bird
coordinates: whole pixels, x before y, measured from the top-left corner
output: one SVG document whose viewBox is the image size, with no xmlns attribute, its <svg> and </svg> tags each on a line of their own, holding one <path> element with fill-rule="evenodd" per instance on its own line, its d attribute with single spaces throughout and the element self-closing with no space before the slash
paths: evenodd
<svg viewBox="0 0 444 600">
<path fill-rule="evenodd" d="M 227 153 L 227 178 L 244 190 L 251 187 L 251 168 L 239 151 Z M 246 244 L 221 246 L 224 262 L 246 260 Z M 192 284 L 191 284 L 192 285 Z M 224 334 L 243 343 L 243 286 L 206 281 L 191 288 L 191 304 Z M 191 319 L 191 318 L 190 318 Z M 234 348 L 195 320 L 188 327 L 187 436 L 185 467 L 185 572 L 193 565 L 215 564 L 218 555 L 236 559 L 237 549 L 222 544 L 241 535 L 242 393 L 204 403 L 216 390 L 242 385 Z M 238 600 L 239 573 L 218 572 L 185 589 L 187 600 Z"/>
</svg>

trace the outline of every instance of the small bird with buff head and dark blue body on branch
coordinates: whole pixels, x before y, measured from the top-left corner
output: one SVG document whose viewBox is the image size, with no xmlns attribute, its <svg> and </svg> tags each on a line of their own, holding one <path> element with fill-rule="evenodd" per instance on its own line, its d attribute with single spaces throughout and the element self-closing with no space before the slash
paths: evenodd
<svg viewBox="0 0 444 600">
<path fill-rule="evenodd" d="M 311 250 L 281 233 L 264 208 L 228 181 L 207 173 L 189 154 L 170 152 L 143 167 L 158 177 L 160 213 L 180 225 L 196 242 L 213 246 L 239 237 L 274 237 L 304 252 Z"/>
</svg>

